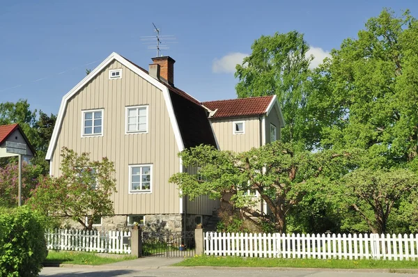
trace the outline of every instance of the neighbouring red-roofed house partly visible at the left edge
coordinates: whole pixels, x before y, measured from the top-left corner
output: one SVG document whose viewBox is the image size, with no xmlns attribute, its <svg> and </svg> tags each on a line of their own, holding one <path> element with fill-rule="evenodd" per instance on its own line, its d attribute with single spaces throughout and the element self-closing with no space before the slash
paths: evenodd
<svg viewBox="0 0 418 277">
<path fill-rule="evenodd" d="M 0 157 L 17 156 L 6 151 L 6 143 L 22 143 L 26 145 L 26 155 L 22 155 L 22 161 L 29 163 L 29 159 L 35 156 L 36 151 L 22 131 L 19 124 L 0 126 Z"/>
</svg>

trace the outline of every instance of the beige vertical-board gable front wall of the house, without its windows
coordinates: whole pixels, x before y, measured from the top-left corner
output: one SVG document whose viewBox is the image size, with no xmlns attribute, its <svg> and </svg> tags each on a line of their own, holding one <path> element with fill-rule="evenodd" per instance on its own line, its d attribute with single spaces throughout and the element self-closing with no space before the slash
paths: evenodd
<svg viewBox="0 0 418 277">
<path fill-rule="evenodd" d="M 122 78 L 109 80 L 109 70 L 122 68 Z M 125 106 L 148 104 L 148 134 L 125 134 Z M 82 138 L 82 110 L 104 109 L 103 136 Z M 107 157 L 116 168 L 115 214 L 180 212 L 179 191 L 167 181 L 180 169 L 178 145 L 162 91 L 117 61 L 109 64 L 68 101 L 52 155 L 52 175 L 60 175 L 61 148 Z M 128 193 L 128 165 L 153 164 L 152 193 Z"/>
</svg>

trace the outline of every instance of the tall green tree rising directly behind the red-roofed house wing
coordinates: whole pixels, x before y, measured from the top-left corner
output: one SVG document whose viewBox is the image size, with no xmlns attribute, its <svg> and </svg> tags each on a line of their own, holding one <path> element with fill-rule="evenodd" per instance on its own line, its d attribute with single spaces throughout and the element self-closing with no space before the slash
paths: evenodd
<svg viewBox="0 0 418 277">
<path fill-rule="evenodd" d="M 309 45 L 302 33 L 262 35 L 251 49 L 251 55 L 236 67 L 238 97 L 277 95 L 286 122 L 282 141 L 311 145 L 315 125 L 306 120 L 304 109 L 312 57 L 307 56 Z"/>
</svg>

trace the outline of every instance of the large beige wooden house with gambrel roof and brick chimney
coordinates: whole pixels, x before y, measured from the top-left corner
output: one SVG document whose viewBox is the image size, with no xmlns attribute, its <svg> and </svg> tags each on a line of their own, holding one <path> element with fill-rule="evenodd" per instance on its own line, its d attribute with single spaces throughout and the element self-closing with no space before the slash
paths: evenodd
<svg viewBox="0 0 418 277">
<path fill-rule="evenodd" d="M 147 71 L 112 53 L 61 102 L 46 157 L 50 174 L 61 174 L 64 146 L 115 163 L 118 192 L 111 196 L 115 216 L 98 221 L 98 228 L 124 228 L 134 221 L 162 224 L 173 231 L 192 228 L 212 216 L 219 201 L 179 196 L 169 177 L 196 168 L 185 168 L 178 152 L 202 143 L 231 150 L 244 143 L 236 148 L 240 151 L 258 147 L 269 141 L 269 124 L 275 124 L 275 136 L 280 136 L 276 97 L 255 97 L 246 107 L 258 108 L 244 113 L 239 113 L 242 103 L 236 100 L 201 103 L 174 86 L 173 58 L 152 60 Z M 230 114 L 228 103 L 235 105 Z"/>
</svg>

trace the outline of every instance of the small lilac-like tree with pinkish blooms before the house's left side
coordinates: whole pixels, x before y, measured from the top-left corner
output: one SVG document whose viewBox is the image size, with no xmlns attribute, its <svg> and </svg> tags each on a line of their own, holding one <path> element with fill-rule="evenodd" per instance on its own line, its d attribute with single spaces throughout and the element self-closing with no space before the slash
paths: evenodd
<svg viewBox="0 0 418 277">
<path fill-rule="evenodd" d="M 60 177 L 41 179 L 29 204 L 49 216 L 77 221 L 88 230 L 93 228 L 93 219 L 113 215 L 110 196 L 116 192 L 114 163 L 106 157 L 91 161 L 88 156 L 63 148 Z"/>
</svg>

